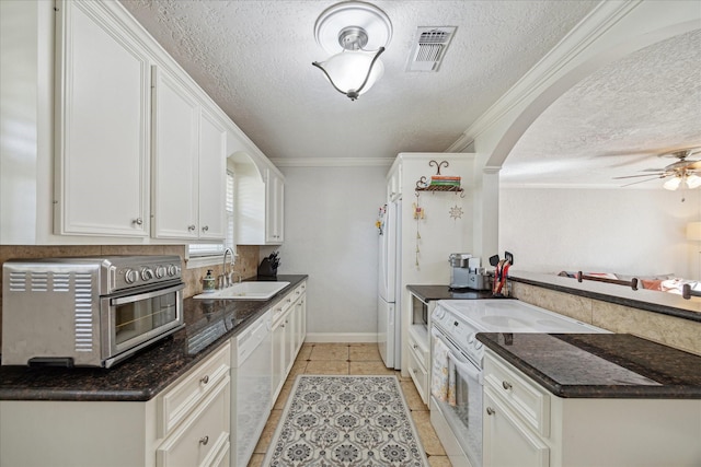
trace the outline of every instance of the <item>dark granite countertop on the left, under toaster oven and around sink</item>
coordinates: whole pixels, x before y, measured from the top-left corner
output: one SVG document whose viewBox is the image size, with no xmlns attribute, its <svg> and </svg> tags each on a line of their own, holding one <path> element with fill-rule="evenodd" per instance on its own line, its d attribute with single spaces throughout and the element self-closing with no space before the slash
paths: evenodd
<svg viewBox="0 0 701 467">
<path fill-rule="evenodd" d="M 278 276 L 267 301 L 185 299 L 185 328 L 111 369 L 0 366 L 0 400 L 149 400 L 307 278 Z"/>
</svg>

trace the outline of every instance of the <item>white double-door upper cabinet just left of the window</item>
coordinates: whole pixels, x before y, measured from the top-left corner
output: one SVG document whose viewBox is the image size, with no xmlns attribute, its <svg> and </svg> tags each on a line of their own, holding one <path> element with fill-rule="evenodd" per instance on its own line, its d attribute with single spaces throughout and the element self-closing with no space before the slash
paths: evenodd
<svg viewBox="0 0 701 467">
<path fill-rule="evenodd" d="M 226 128 L 176 78 L 153 73 L 153 236 L 222 240 Z"/>
</svg>

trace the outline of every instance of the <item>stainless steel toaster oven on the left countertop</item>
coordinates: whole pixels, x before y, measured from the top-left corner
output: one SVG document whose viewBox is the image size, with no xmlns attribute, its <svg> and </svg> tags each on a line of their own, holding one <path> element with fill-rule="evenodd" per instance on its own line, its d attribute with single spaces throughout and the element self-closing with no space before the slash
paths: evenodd
<svg viewBox="0 0 701 467">
<path fill-rule="evenodd" d="M 2 364 L 104 366 L 183 324 L 179 256 L 8 260 Z"/>
</svg>

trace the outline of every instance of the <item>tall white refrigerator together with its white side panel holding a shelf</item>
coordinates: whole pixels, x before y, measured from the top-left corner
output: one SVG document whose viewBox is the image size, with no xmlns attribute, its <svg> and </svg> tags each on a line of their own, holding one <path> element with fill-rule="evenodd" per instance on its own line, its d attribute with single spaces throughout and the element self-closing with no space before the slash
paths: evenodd
<svg viewBox="0 0 701 467">
<path fill-rule="evenodd" d="M 407 284 L 448 285 L 451 253 L 471 253 L 473 154 L 401 153 L 388 174 L 386 212 L 379 235 L 377 340 L 387 367 L 403 370 L 404 343 L 413 326 Z M 464 191 L 415 191 L 424 177 L 459 175 Z M 445 163 L 448 163 L 446 165 Z M 415 218 L 421 207 L 424 217 Z M 425 327 L 425 326 L 424 326 Z"/>
</svg>

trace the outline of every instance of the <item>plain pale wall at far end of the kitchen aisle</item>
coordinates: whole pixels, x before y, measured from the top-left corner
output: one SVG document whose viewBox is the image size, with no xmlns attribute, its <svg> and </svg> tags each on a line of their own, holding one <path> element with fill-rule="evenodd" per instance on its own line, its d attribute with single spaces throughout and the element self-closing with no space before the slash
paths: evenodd
<svg viewBox="0 0 701 467">
<path fill-rule="evenodd" d="M 378 209 L 389 167 L 280 167 L 285 244 L 278 273 L 309 275 L 307 330 L 377 330 Z M 263 248 L 262 256 L 265 256 Z"/>
</svg>

